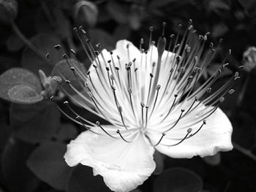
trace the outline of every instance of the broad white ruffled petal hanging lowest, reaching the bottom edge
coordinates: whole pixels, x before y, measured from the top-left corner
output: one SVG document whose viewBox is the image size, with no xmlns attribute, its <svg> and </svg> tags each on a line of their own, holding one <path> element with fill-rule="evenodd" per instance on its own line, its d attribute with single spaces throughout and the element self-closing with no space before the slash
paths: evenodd
<svg viewBox="0 0 256 192">
<path fill-rule="evenodd" d="M 111 190 L 124 192 L 132 191 L 154 172 L 153 153 L 141 134 L 127 143 L 85 131 L 67 145 L 64 158 L 69 166 L 91 166 Z"/>
</svg>

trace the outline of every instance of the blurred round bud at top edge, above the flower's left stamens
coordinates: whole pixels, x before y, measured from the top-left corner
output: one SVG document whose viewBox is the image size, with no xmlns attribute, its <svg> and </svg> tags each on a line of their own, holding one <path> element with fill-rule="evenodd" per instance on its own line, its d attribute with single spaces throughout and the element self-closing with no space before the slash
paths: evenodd
<svg viewBox="0 0 256 192">
<path fill-rule="evenodd" d="M 97 23 L 98 12 L 93 2 L 79 0 L 74 7 L 74 19 L 78 25 L 93 27 Z"/>
</svg>

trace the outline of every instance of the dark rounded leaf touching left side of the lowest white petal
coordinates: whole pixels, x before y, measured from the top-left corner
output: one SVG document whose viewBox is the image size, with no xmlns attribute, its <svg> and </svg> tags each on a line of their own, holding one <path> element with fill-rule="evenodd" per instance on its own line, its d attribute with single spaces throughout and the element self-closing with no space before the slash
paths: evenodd
<svg viewBox="0 0 256 192">
<path fill-rule="evenodd" d="M 66 145 L 59 142 L 47 142 L 37 147 L 29 156 L 27 165 L 40 180 L 53 188 L 65 190 L 72 168 L 64 161 Z"/>
</svg>

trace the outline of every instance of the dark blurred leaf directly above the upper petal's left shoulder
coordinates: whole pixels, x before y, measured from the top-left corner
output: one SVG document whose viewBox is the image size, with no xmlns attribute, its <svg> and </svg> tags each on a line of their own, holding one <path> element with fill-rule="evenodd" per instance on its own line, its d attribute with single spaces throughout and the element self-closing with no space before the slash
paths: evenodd
<svg viewBox="0 0 256 192">
<path fill-rule="evenodd" d="M 116 46 L 115 39 L 102 29 L 91 29 L 89 31 L 89 34 L 91 37 L 92 45 L 97 45 L 98 43 L 100 43 L 101 47 L 107 50 L 113 50 Z"/>
</svg>

